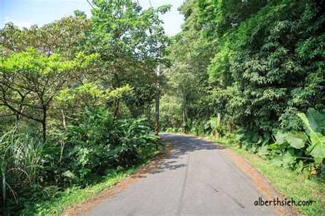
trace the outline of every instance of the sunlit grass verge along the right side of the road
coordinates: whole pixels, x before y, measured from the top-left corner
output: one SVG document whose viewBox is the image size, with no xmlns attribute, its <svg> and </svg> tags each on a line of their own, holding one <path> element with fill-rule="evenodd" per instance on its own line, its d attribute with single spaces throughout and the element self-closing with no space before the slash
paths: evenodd
<svg viewBox="0 0 325 216">
<path fill-rule="evenodd" d="M 195 136 L 195 134 L 183 134 Z M 199 136 L 202 138 L 202 136 Z M 245 149 L 232 139 L 220 138 L 215 140 L 213 137 L 208 137 L 208 140 L 213 143 L 219 143 L 233 152 L 236 152 L 255 167 L 262 175 L 274 186 L 274 188 L 283 197 L 296 202 L 313 200 L 311 206 L 294 206 L 293 208 L 301 215 L 325 215 L 325 181 L 317 177 L 309 177 L 304 173 L 296 173 L 291 169 L 283 167 L 275 167 L 272 161 L 261 158 L 256 154 L 250 154 Z M 276 197 L 274 197 L 276 198 Z"/>
</svg>

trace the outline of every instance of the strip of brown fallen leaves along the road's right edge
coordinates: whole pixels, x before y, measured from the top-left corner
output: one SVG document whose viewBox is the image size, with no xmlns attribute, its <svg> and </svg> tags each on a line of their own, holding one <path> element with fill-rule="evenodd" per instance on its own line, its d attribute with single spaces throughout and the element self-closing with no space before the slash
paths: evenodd
<svg viewBox="0 0 325 216">
<path fill-rule="evenodd" d="M 237 153 L 232 152 L 231 149 L 228 149 L 217 143 L 213 144 L 218 145 L 218 148 L 221 149 L 221 151 L 226 152 L 229 158 L 231 158 L 234 163 L 236 163 L 236 165 L 254 181 L 256 187 L 263 193 L 263 195 L 265 195 L 265 198 L 267 200 L 273 200 L 276 197 L 279 197 L 281 200 L 285 200 L 285 197 L 280 195 L 280 193 L 278 193 L 278 191 L 272 187 L 272 184 L 270 184 L 270 182 L 268 182 L 267 179 L 258 170 L 252 167 L 252 165 L 250 165 L 247 160 L 241 158 L 241 156 L 239 156 Z M 289 208 L 289 206 L 272 207 L 274 208 L 274 211 L 276 211 L 276 213 L 279 215 L 298 215 L 296 211 L 294 211 L 292 208 Z"/>
</svg>

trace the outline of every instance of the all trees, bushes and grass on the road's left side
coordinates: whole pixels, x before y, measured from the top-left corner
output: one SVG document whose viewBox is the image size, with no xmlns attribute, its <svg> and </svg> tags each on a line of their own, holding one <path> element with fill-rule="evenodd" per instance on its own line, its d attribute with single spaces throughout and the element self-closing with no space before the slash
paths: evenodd
<svg viewBox="0 0 325 216">
<path fill-rule="evenodd" d="M 169 6 L 93 6 L 89 19 L 75 11 L 0 31 L 1 215 L 41 213 L 65 191 L 114 182 L 162 149 L 150 114 Z"/>
</svg>

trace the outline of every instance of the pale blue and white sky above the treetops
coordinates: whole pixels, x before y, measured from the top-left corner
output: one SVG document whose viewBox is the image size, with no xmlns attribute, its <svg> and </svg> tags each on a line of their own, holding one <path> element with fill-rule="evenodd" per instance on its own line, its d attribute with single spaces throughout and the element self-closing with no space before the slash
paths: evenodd
<svg viewBox="0 0 325 216">
<path fill-rule="evenodd" d="M 143 8 L 150 6 L 149 0 L 138 1 Z M 180 32 L 184 16 L 177 9 L 184 0 L 150 1 L 154 8 L 165 4 L 172 5 L 171 11 L 161 17 L 163 26 L 169 36 Z M 91 5 L 86 0 L 0 0 L 0 28 L 10 21 L 21 28 L 33 24 L 41 26 L 63 16 L 73 15 L 74 10 L 84 11 L 87 17 L 91 16 Z"/>
</svg>

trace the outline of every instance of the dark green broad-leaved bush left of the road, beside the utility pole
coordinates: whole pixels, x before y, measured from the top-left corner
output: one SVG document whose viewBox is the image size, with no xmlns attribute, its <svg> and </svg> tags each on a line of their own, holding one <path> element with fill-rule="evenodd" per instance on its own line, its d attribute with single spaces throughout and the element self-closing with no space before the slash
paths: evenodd
<svg viewBox="0 0 325 216">
<path fill-rule="evenodd" d="M 115 121 L 110 112 L 91 108 L 76 118 L 64 132 L 67 165 L 62 166 L 69 167 L 68 175 L 78 179 L 136 163 L 139 149 L 158 138 L 149 134 L 144 117 Z"/>
</svg>

